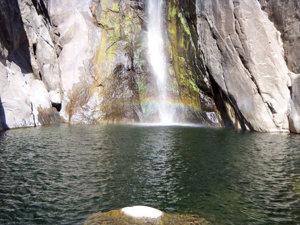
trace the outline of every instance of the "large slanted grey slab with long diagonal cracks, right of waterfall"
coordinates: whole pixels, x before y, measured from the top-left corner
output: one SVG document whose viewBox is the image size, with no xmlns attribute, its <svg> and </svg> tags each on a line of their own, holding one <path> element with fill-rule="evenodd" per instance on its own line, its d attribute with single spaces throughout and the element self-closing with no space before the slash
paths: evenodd
<svg viewBox="0 0 300 225">
<path fill-rule="evenodd" d="M 280 33 L 254 0 L 197 0 L 205 67 L 235 127 L 288 131 L 291 80 Z M 238 123 L 238 124 L 236 124 Z"/>
</svg>

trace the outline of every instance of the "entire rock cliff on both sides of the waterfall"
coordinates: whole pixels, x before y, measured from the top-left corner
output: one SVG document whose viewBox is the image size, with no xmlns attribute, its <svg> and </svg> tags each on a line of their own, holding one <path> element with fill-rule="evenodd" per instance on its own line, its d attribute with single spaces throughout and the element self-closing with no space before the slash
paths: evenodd
<svg viewBox="0 0 300 225">
<path fill-rule="evenodd" d="M 157 122 L 146 0 L 0 6 L 0 129 Z M 161 22 L 179 122 L 300 133 L 297 0 L 167 0 Z"/>
</svg>

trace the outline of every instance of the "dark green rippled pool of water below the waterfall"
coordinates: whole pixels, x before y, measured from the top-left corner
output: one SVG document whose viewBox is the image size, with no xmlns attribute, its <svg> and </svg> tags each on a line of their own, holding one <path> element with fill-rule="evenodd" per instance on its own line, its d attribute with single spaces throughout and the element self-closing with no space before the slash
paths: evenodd
<svg viewBox="0 0 300 225">
<path fill-rule="evenodd" d="M 60 125 L 0 133 L 0 223 L 147 205 L 212 224 L 300 224 L 300 135 Z"/>
</svg>

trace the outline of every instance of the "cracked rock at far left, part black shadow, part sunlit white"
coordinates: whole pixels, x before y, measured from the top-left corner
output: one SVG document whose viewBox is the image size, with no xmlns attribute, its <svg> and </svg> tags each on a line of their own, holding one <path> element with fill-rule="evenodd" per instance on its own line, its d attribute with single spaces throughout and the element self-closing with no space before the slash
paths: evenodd
<svg viewBox="0 0 300 225">
<path fill-rule="evenodd" d="M 46 5 L 44 1 L 0 2 L 2 128 L 60 120 L 48 94 L 48 90 L 58 88 L 59 77 Z"/>
</svg>

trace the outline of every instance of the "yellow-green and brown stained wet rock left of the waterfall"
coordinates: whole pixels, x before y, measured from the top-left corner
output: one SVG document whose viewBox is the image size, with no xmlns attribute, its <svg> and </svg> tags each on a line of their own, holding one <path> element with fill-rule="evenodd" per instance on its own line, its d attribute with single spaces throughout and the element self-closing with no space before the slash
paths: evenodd
<svg viewBox="0 0 300 225">
<path fill-rule="evenodd" d="M 98 4 L 98 6 L 97 6 Z M 130 0 L 105 0 L 92 5 L 102 34 L 93 62 L 89 95 L 98 93 L 98 123 L 138 122 L 141 117 L 139 46 L 142 32 L 140 8 Z M 100 110 L 99 110 L 100 108 Z"/>
</svg>

